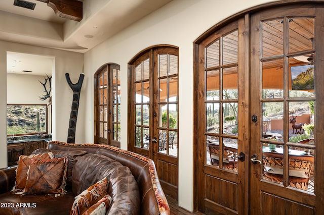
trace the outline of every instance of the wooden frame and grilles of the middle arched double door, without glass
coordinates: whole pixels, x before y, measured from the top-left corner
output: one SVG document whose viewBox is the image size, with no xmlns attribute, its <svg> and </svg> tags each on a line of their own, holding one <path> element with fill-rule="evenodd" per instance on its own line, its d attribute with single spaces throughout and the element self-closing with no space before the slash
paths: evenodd
<svg viewBox="0 0 324 215">
<path fill-rule="evenodd" d="M 170 55 L 177 56 L 177 74 L 171 74 L 169 75 L 169 72 L 167 72 L 165 75 L 159 76 L 158 75 L 158 65 L 159 65 L 159 56 L 169 56 Z M 144 62 L 149 60 L 149 74 L 144 75 L 143 65 Z M 169 59 L 170 60 L 170 59 Z M 171 67 L 169 60 L 166 60 L 163 64 L 168 65 L 167 68 Z M 141 66 L 142 65 L 142 66 Z M 141 68 L 141 69 L 139 69 Z M 170 69 L 170 68 L 169 68 Z M 135 74 L 142 70 L 142 78 L 137 77 L 139 74 Z M 168 70 L 169 71 L 169 70 Z M 148 71 L 146 71 L 147 73 Z M 169 150 L 169 141 L 170 141 L 170 135 L 171 133 L 178 134 L 179 126 L 177 128 L 169 128 L 169 125 L 163 126 L 159 125 L 159 120 L 162 119 L 161 116 L 161 106 L 168 106 L 167 113 L 169 112 L 169 105 L 178 105 L 178 94 L 177 94 L 177 100 L 170 101 L 167 99 L 167 101 L 161 101 L 159 99 L 159 96 L 161 95 L 160 92 L 163 91 L 166 93 L 165 95 L 168 97 L 170 96 L 169 89 L 171 88 L 169 86 L 170 80 L 172 78 L 176 78 L 178 80 L 178 47 L 172 46 L 172 45 L 158 45 L 158 46 L 151 46 L 140 53 L 136 55 L 130 62 L 128 66 L 128 89 L 130 91 L 128 95 L 128 118 L 129 118 L 129 124 L 128 124 L 128 150 L 134 151 L 136 153 L 142 154 L 144 156 L 147 156 L 151 159 L 153 159 L 158 177 L 161 183 L 161 186 L 164 189 L 164 192 L 171 196 L 174 199 L 178 199 L 178 147 L 177 155 L 172 156 L 170 154 Z M 145 76 L 145 78 L 144 78 Z M 137 77 L 137 78 L 136 78 Z M 160 80 L 166 81 L 166 87 L 164 90 L 161 90 L 159 87 Z M 144 85 L 146 91 L 149 90 L 149 102 L 144 102 L 144 99 L 140 99 L 141 101 L 137 100 L 135 98 L 134 93 L 138 91 L 139 89 L 136 88 L 137 84 L 141 86 L 141 94 L 142 97 L 144 97 Z M 149 84 L 149 85 L 148 85 Z M 136 86 L 135 86 L 136 85 Z M 148 87 L 147 87 L 148 85 Z M 179 85 L 178 81 L 176 82 L 177 90 L 176 92 L 179 92 Z M 136 88 L 136 89 L 135 89 Z M 147 92 L 146 92 L 147 93 Z M 146 95 L 147 96 L 147 95 Z M 144 105 L 149 105 L 149 124 L 144 125 L 144 121 L 142 118 L 144 118 L 144 111 L 141 112 L 141 122 L 135 122 L 135 109 L 134 105 L 138 105 L 141 107 L 141 110 L 144 110 Z M 177 108 L 178 111 L 178 108 Z M 178 114 L 179 116 L 179 114 Z M 170 118 L 169 118 L 170 119 Z M 169 119 L 167 119 L 167 122 L 169 122 Z M 176 119 L 177 122 L 179 122 L 179 117 Z M 139 129 L 139 130 L 137 130 Z M 149 131 L 149 141 L 148 145 L 144 145 L 144 141 L 142 141 L 143 135 L 145 132 Z M 136 132 L 136 131 L 137 132 Z M 165 144 L 166 144 L 166 150 L 164 153 L 162 150 L 159 150 L 159 142 L 161 141 L 159 138 L 160 132 L 163 131 L 166 134 Z M 141 134 L 140 137 L 138 137 L 138 134 Z M 136 140 L 136 138 L 139 138 Z M 178 139 L 178 138 L 177 138 Z M 153 141 L 152 141 L 153 140 Z M 140 143 L 138 143 L 138 142 Z M 172 138 L 173 141 L 173 138 Z M 138 144 L 135 146 L 135 144 Z M 164 144 L 164 143 L 163 143 Z M 179 142 L 178 142 L 179 144 Z"/>
</svg>

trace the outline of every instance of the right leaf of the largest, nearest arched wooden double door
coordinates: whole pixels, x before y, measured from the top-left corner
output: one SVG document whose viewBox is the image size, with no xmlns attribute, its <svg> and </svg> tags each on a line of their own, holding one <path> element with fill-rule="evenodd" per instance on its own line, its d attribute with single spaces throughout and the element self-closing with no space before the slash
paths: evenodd
<svg viewBox="0 0 324 215">
<path fill-rule="evenodd" d="M 298 5 L 251 16 L 251 214 L 323 209 L 323 14 Z"/>
</svg>

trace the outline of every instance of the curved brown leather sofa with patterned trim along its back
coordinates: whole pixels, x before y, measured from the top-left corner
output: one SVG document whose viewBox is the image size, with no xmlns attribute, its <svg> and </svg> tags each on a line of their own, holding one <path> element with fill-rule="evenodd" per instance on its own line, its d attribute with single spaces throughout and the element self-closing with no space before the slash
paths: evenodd
<svg viewBox="0 0 324 215">
<path fill-rule="evenodd" d="M 67 193 L 58 197 L 14 194 L 10 191 L 15 185 L 16 168 L 7 168 L 0 171 L 0 214 L 69 214 L 74 197 L 102 177 L 110 181 L 112 203 L 107 214 L 170 214 L 151 159 L 99 144 L 52 141 L 48 150 L 87 152 L 75 158 Z"/>
</svg>

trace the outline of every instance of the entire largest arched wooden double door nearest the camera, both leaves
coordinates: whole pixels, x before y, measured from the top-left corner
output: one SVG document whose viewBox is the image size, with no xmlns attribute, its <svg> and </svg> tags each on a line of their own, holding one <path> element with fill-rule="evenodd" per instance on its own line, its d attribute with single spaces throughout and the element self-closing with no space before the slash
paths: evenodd
<svg viewBox="0 0 324 215">
<path fill-rule="evenodd" d="M 271 6 L 195 42 L 195 202 L 206 214 L 324 209 L 324 10 Z"/>
</svg>

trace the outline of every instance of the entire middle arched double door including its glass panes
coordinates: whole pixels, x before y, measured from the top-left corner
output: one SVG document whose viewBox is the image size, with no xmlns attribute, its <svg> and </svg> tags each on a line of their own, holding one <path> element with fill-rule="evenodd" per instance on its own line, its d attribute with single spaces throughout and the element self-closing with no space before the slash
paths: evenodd
<svg viewBox="0 0 324 215">
<path fill-rule="evenodd" d="M 178 49 L 148 48 L 129 65 L 129 145 L 154 160 L 165 194 L 178 199 Z"/>
</svg>

